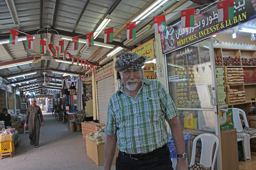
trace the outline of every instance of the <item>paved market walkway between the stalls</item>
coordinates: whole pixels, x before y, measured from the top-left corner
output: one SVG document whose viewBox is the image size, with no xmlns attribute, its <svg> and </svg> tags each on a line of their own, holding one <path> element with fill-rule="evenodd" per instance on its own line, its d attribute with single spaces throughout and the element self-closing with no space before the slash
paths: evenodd
<svg viewBox="0 0 256 170">
<path fill-rule="evenodd" d="M 0 160 L 0 169 L 104 169 L 87 156 L 82 132 L 68 132 L 67 123 L 57 122 L 51 114 L 44 115 L 40 129 L 39 148 L 29 145 L 28 133 L 20 134 L 21 144 L 15 147 L 13 158 Z M 115 169 L 115 164 L 111 170 Z"/>
</svg>

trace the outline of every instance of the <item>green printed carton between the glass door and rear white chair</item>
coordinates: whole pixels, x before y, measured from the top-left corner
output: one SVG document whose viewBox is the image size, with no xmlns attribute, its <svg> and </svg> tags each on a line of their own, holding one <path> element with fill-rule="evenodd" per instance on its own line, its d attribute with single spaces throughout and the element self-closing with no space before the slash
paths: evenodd
<svg viewBox="0 0 256 170">
<path fill-rule="evenodd" d="M 219 110 L 220 131 L 234 129 L 232 111 L 233 109 L 228 109 L 228 112 Z"/>
</svg>

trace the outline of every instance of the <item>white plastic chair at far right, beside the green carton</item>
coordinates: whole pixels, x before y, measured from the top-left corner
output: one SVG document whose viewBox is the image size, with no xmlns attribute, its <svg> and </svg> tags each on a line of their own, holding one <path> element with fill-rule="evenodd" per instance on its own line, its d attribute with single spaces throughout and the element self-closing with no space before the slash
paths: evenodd
<svg viewBox="0 0 256 170">
<path fill-rule="evenodd" d="M 240 114 L 243 115 L 244 125 L 246 127 L 249 127 L 247 119 L 246 119 L 246 115 L 243 110 L 241 110 L 239 108 L 229 108 L 229 109 L 233 109 L 232 114 L 233 114 L 234 128 L 236 128 L 236 132 L 243 130 L 243 126 L 242 126 L 240 116 L 239 116 Z M 247 160 L 251 160 L 250 139 L 253 137 L 256 137 L 256 135 L 255 134 L 251 135 L 248 133 L 237 133 L 237 135 L 241 135 L 244 137 L 244 150 L 245 150 L 244 157 Z"/>
</svg>

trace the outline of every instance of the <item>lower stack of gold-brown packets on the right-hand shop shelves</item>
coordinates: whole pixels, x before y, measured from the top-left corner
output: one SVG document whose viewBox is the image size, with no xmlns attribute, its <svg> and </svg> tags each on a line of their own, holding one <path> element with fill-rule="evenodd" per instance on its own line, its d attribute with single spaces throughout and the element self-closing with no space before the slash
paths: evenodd
<svg viewBox="0 0 256 170">
<path fill-rule="evenodd" d="M 245 102 L 245 91 L 238 91 L 237 89 L 230 89 L 230 86 L 226 86 L 227 103 L 241 103 Z"/>
</svg>

